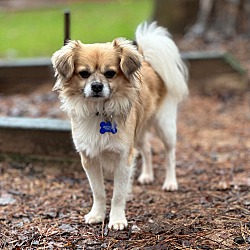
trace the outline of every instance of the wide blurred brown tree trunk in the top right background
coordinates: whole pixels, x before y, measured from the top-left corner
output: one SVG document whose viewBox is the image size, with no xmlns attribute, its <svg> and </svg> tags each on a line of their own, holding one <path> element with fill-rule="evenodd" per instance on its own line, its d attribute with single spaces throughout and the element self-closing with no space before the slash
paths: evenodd
<svg viewBox="0 0 250 250">
<path fill-rule="evenodd" d="M 155 0 L 153 19 L 171 33 L 207 41 L 250 37 L 250 0 Z"/>
</svg>

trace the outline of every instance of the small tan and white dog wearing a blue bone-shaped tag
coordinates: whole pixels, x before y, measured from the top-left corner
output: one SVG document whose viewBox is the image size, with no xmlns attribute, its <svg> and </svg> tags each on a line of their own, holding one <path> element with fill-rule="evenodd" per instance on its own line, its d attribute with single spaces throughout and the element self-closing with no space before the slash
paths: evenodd
<svg viewBox="0 0 250 250">
<path fill-rule="evenodd" d="M 109 43 L 69 41 L 52 56 L 59 91 L 71 120 L 75 147 L 93 192 L 86 223 L 105 219 L 104 176 L 114 190 L 109 228 L 123 230 L 126 195 L 138 149 L 141 184 L 153 182 L 148 131 L 162 139 L 168 165 L 164 190 L 177 190 L 175 173 L 177 104 L 188 94 L 187 69 L 166 29 L 141 24 L 136 42 L 117 38 Z"/>
</svg>

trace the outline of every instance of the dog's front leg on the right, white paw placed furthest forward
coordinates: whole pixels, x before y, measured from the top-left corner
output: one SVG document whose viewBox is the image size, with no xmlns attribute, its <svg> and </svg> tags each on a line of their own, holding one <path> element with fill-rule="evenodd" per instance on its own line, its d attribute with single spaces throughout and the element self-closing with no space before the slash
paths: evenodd
<svg viewBox="0 0 250 250">
<path fill-rule="evenodd" d="M 114 169 L 114 191 L 111 201 L 109 228 L 123 230 L 128 222 L 125 215 L 126 196 L 130 186 L 133 160 L 122 157 Z"/>
</svg>

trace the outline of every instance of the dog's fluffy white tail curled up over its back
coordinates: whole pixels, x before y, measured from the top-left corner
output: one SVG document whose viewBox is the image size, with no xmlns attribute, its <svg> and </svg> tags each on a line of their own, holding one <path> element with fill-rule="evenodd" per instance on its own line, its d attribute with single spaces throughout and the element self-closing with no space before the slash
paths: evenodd
<svg viewBox="0 0 250 250">
<path fill-rule="evenodd" d="M 136 30 L 136 42 L 145 61 L 160 75 L 169 96 L 181 101 L 188 94 L 188 71 L 169 32 L 151 24 L 142 23 Z"/>
</svg>

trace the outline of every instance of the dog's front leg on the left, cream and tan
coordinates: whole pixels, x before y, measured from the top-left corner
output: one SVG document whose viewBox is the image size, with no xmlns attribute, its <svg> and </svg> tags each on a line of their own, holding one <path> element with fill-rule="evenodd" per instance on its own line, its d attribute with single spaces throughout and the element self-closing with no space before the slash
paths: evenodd
<svg viewBox="0 0 250 250">
<path fill-rule="evenodd" d="M 85 222 L 88 224 L 104 221 L 106 214 L 106 194 L 103 179 L 103 170 L 97 159 L 89 159 L 82 153 L 81 160 L 83 168 L 89 180 L 93 193 L 93 205 L 91 211 L 85 215 Z"/>
</svg>

